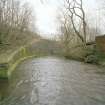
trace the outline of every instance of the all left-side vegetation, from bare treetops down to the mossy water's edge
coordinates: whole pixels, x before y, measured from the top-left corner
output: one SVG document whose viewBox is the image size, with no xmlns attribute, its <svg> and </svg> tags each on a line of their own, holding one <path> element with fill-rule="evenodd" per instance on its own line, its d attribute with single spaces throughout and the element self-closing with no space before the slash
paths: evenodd
<svg viewBox="0 0 105 105">
<path fill-rule="evenodd" d="M 0 77 L 7 77 L 11 67 L 15 67 L 21 59 L 32 56 L 25 52 L 25 46 L 40 38 L 32 31 L 35 29 L 33 21 L 28 3 L 0 0 Z"/>
</svg>

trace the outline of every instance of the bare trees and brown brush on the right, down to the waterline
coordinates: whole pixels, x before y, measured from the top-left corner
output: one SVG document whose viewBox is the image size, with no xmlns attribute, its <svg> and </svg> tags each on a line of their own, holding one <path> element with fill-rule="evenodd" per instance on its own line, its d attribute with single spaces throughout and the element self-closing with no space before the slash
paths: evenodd
<svg viewBox="0 0 105 105">
<path fill-rule="evenodd" d="M 65 0 L 60 19 L 60 42 L 66 58 L 98 63 L 101 59 L 97 52 L 95 37 L 99 29 L 92 28 L 84 10 L 83 0 Z"/>
</svg>

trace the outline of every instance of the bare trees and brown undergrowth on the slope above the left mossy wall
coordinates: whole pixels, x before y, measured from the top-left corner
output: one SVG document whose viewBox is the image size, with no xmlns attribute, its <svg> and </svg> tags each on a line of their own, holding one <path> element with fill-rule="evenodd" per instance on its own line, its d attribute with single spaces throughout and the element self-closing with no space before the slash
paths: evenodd
<svg viewBox="0 0 105 105">
<path fill-rule="evenodd" d="M 0 49 L 26 45 L 38 37 L 32 32 L 35 28 L 32 21 L 34 18 L 28 3 L 0 0 Z"/>
</svg>

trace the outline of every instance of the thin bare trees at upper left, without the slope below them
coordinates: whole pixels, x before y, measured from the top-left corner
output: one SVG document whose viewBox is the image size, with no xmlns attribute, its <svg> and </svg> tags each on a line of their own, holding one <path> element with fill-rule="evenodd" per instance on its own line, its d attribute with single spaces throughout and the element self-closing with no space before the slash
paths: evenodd
<svg viewBox="0 0 105 105">
<path fill-rule="evenodd" d="M 16 33 L 30 30 L 32 10 L 20 0 L 0 0 L 0 43 L 16 39 Z M 18 34 L 19 35 L 19 34 Z"/>
</svg>

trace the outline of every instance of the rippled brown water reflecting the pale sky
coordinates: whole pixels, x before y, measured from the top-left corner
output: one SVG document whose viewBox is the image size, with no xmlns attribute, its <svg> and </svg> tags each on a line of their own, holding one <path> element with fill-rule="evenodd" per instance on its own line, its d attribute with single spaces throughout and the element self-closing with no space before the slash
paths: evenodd
<svg viewBox="0 0 105 105">
<path fill-rule="evenodd" d="M 105 68 L 56 57 L 21 63 L 0 82 L 0 105 L 105 105 Z"/>
</svg>

